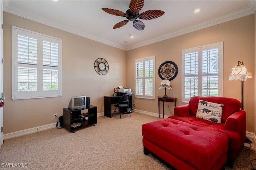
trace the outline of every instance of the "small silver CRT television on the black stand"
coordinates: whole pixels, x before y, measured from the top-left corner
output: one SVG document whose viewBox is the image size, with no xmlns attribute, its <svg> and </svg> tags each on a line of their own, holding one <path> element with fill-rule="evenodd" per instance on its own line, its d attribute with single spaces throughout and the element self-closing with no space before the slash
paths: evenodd
<svg viewBox="0 0 256 170">
<path fill-rule="evenodd" d="M 86 96 L 73 96 L 70 99 L 68 108 L 71 110 L 86 108 Z"/>
</svg>

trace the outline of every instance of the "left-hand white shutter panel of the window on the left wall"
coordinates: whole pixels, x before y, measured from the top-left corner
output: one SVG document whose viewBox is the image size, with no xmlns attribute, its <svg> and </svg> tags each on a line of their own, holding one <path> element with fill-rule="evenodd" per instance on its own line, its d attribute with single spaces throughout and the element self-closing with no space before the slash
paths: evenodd
<svg viewBox="0 0 256 170">
<path fill-rule="evenodd" d="M 40 36 L 24 30 L 13 30 L 12 97 L 32 98 L 38 95 L 38 49 Z"/>
</svg>

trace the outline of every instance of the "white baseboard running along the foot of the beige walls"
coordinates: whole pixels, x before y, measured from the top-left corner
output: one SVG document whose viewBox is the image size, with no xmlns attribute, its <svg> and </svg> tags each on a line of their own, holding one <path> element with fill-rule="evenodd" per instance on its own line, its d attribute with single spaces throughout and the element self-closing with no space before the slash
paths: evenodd
<svg viewBox="0 0 256 170">
<path fill-rule="evenodd" d="M 141 110 L 138 110 L 138 109 L 132 109 L 132 110 L 137 112 L 137 113 L 142 113 L 142 114 L 145 114 L 145 115 L 158 117 L 157 113 L 141 111 Z M 104 112 L 97 114 L 97 117 L 100 117 L 100 116 L 104 116 Z M 160 114 L 160 117 L 163 117 L 163 115 Z M 164 118 L 167 118 L 167 117 L 169 117 L 169 115 L 164 116 Z M 55 128 L 55 127 L 56 127 L 56 123 L 51 123 L 51 124 L 48 124 L 48 125 L 43 125 L 43 126 L 39 126 L 39 127 L 19 130 L 19 131 L 16 131 L 16 132 L 6 133 L 6 134 L 3 135 L 3 140 L 10 139 L 10 138 L 16 138 L 18 136 L 23 136 L 23 135 L 26 135 L 26 134 L 32 134 L 32 133 L 35 133 L 35 132 L 40 132 L 42 130 L 47 130 L 47 129 Z M 246 131 L 246 136 L 248 136 L 250 138 L 253 138 L 254 142 L 256 143 L 256 135 L 253 132 L 247 132 Z"/>
</svg>

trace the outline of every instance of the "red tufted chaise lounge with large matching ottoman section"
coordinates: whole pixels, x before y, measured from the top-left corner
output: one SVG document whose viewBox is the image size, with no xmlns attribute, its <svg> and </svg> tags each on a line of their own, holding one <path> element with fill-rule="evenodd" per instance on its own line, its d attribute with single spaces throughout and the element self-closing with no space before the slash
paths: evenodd
<svg viewBox="0 0 256 170">
<path fill-rule="evenodd" d="M 204 109 L 205 102 L 220 106 L 221 120 L 197 115 L 214 115 Z M 227 97 L 192 97 L 188 104 L 174 107 L 174 116 L 142 125 L 144 154 L 152 153 L 176 169 L 215 170 L 225 164 L 233 168 L 246 132 L 240 107 L 240 101 Z"/>
</svg>

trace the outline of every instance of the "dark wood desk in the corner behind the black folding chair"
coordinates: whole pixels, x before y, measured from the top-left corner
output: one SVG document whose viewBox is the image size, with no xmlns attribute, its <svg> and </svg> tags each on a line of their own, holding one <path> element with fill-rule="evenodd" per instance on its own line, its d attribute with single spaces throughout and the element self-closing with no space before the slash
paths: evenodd
<svg viewBox="0 0 256 170">
<path fill-rule="evenodd" d="M 112 117 L 112 104 L 118 103 L 120 97 L 124 94 L 128 94 L 130 96 L 129 99 L 129 107 L 132 113 L 132 92 L 127 93 L 118 93 L 118 96 L 104 96 L 104 116 Z"/>
</svg>

